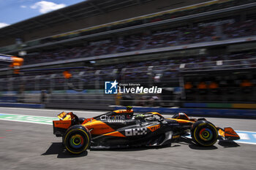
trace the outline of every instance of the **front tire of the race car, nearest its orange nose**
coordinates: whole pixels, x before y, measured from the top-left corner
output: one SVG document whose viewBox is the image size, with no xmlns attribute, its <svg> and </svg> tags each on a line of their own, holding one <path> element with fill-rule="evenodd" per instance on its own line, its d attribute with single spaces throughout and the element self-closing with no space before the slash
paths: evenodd
<svg viewBox="0 0 256 170">
<path fill-rule="evenodd" d="M 217 142 L 218 131 L 212 123 L 206 120 L 199 120 L 193 124 L 191 136 L 196 144 L 210 147 Z"/>
</svg>

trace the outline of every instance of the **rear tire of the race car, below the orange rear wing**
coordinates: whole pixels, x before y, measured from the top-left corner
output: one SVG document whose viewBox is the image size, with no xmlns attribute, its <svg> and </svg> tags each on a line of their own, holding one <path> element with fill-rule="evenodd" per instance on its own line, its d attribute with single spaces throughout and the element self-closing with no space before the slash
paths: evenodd
<svg viewBox="0 0 256 170">
<path fill-rule="evenodd" d="M 91 134 L 83 125 L 73 125 L 64 135 L 64 147 L 72 154 L 85 152 L 91 144 Z"/>
</svg>

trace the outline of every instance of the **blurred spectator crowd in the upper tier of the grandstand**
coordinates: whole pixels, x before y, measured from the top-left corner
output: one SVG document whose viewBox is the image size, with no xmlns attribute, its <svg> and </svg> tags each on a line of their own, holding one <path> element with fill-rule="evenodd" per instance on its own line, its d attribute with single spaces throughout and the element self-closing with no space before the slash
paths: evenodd
<svg viewBox="0 0 256 170">
<path fill-rule="evenodd" d="M 222 28 L 217 31 L 217 27 Z M 69 47 L 27 55 L 24 64 L 62 61 L 74 58 L 86 58 L 99 55 L 110 55 L 135 50 L 146 50 L 159 47 L 187 45 L 198 42 L 211 42 L 242 36 L 256 35 L 256 20 L 223 23 L 220 26 L 211 24 L 198 25 L 192 28 L 180 27 L 153 31 L 152 33 L 119 36 L 116 39 L 103 39 L 88 42 L 83 47 Z"/>
</svg>

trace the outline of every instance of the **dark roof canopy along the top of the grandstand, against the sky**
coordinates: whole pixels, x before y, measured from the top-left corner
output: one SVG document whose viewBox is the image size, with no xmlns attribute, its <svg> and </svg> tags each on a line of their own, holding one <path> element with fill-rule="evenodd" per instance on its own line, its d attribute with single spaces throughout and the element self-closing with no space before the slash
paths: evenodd
<svg viewBox="0 0 256 170">
<path fill-rule="evenodd" d="M 50 28 L 51 26 L 67 22 L 79 20 L 81 18 L 89 18 L 94 15 L 104 14 L 116 9 L 129 7 L 136 4 L 143 4 L 153 0 L 87 0 L 78 4 L 64 7 L 62 9 L 48 12 L 44 15 L 39 15 L 28 20 L 23 20 L 19 23 L 0 28 L 0 37 L 11 36 L 30 31 L 37 28 Z"/>
</svg>

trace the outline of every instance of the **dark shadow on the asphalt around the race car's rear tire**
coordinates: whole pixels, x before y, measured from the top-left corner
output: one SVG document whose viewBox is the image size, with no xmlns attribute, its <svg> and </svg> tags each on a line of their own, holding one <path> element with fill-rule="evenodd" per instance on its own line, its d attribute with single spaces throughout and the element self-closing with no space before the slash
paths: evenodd
<svg viewBox="0 0 256 170">
<path fill-rule="evenodd" d="M 62 142 L 53 142 L 42 155 L 57 155 L 57 158 L 78 158 L 86 156 L 87 154 L 88 152 L 86 151 L 79 155 L 73 155 L 64 148 Z"/>
</svg>

